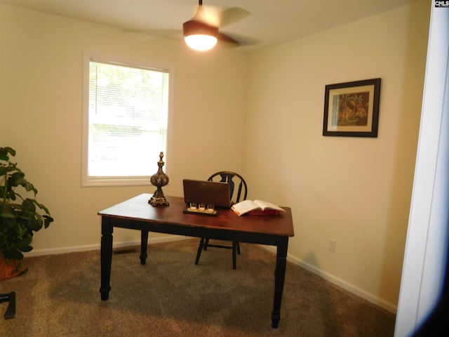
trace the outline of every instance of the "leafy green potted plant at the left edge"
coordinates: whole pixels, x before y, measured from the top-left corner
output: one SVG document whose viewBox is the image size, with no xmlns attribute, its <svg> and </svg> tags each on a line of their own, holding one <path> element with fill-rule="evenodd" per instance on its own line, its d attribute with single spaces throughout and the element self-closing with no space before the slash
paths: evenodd
<svg viewBox="0 0 449 337">
<path fill-rule="evenodd" d="M 0 279 L 27 271 L 20 267 L 22 252 L 33 249 L 34 232 L 53 222 L 46 206 L 35 199 L 36 187 L 29 183 L 17 164 L 10 161 L 14 156 L 15 150 L 11 147 L 0 147 L 0 267 L 2 262 L 6 262 L 6 267 L 9 265 L 3 277 L 0 270 Z M 26 197 L 22 191 L 33 197 Z"/>
</svg>

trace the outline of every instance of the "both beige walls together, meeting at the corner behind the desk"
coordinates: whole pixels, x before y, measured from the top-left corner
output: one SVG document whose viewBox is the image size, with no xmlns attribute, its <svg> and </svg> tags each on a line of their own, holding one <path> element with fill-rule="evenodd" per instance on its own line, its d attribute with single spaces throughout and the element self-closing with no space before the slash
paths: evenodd
<svg viewBox="0 0 449 337">
<path fill-rule="evenodd" d="M 394 310 L 428 25 L 424 0 L 248 55 L 194 53 L 180 41 L 140 41 L 112 27 L 0 5 L 0 146 L 18 151 L 55 217 L 36 233 L 34 253 L 98 247 L 97 212 L 154 191 L 80 186 L 87 51 L 173 67 L 167 195 L 182 195 L 182 178 L 241 171 L 250 199 L 292 207 L 291 260 Z M 374 77 L 382 78 L 378 138 L 321 136 L 324 86 Z M 132 231 L 114 234 L 115 242 L 136 239 Z"/>
</svg>

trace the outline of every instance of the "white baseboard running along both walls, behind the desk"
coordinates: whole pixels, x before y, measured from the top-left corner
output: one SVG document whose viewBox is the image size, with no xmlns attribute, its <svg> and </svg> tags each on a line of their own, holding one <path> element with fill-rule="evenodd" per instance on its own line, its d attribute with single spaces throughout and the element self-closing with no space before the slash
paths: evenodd
<svg viewBox="0 0 449 337">
<path fill-rule="evenodd" d="M 192 239 L 192 237 L 185 237 L 182 235 L 173 235 L 168 234 L 164 235 L 163 237 L 156 237 L 156 238 L 149 238 L 148 244 L 159 244 L 163 242 L 173 242 L 173 241 L 180 241 L 185 239 Z M 121 248 L 121 247 L 128 247 L 128 246 L 140 246 L 140 239 L 134 240 L 134 241 L 128 241 L 128 242 L 114 242 L 113 244 L 114 248 Z M 272 251 L 276 253 L 276 248 L 274 246 L 264 246 L 260 245 L 264 249 L 267 249 L 269 251 Z M 30 251 L 29 253 L 26 253 L 26 256 L 41 256 L 41 255 L 53 255 L 53 254 L 62 254 L 62 253 L 72 253 L 76 251 L 95 251 L 100 249 L 100 243 L 98 244 L 92 244 L 87 246 L 72 246 L 72 247 L 63 247 L 63 248 L 55 248 L 55 249 L 35 249 L 33 251 Z M 320 270 L 319 268 L 314 267 L 313 265 L 309 265 L 309 263 L 305 263 L 303 260 L 300 260 L 299 258 L 292 256 L 288 254 L 287 256 L 288 261 L 291 263 L 294 263 L 295 265 L 299 265 L 300 267 L 303 267 L 306 270 L 309 270 L 309 272 L 313 272 L 314 274 L 318 275 L 319 277 L 322 277 L 323 279 L 326 279 L 329 282 L 332 282 L 333 284 L 340 286 L 342 289 L 345 289 L 351 293 L 354 293 L 354 295 L 364 298 L 368 300 L 370 303 L 374 303 L 375 305 L 378 305 L 380 308 L 383 308 L 389 312 L 392 312 L 396 314 L 397 306 L 387 302 L 386 300 L 382 300 L 381 298 L 378 298 L 377 296 L 374 296 L 372 293 L 368 293 L 364 291 L 363 289 L 358 288 L 357 286 L 354 286 L 354 284 L 349 284 L 348 282 L 345 282 L 342 279 L 339 279 L 338 277 L 335 277 L 334 275 L 330 275 L 328 272 L 323 272 L 323 270 Z"/>
</svg>

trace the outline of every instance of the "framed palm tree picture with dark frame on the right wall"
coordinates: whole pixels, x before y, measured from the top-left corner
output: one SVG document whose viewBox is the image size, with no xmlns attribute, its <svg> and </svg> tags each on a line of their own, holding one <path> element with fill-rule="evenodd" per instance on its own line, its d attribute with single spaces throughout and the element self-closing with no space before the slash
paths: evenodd
<svg viewBox="0 0 449 337">
<path fill-rule="evenodd" d="M 328 84 L 323 136 L 377 137 L 380 79 Z"/>
</svg>

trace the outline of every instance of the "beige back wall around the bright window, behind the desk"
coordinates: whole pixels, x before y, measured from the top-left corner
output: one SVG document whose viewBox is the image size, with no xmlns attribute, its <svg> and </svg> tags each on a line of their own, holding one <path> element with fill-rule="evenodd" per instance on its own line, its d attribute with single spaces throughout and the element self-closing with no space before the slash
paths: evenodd
<svg viewBox="0 0 449 337">
<path fill-rule="evenodd" d="M 140 41 L 112 27 L 4 5 L 0 32 L 0 146 L 17 150 L 15 160 L 55 218 L 35 234 L 33 253 L 98 247 L 98 211 L 155 190 L 150 183 L 81 187 L 84 52 L 173 68 L 167 195 L 182 196 L 182 178 L 242 171 L 245 55 L 194 53 L 177 40 Z M 129 230 L 114 234 L 115 242 L 138 237 Z"/>
</svg>

